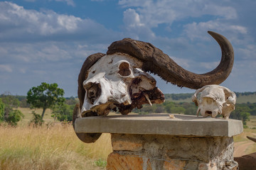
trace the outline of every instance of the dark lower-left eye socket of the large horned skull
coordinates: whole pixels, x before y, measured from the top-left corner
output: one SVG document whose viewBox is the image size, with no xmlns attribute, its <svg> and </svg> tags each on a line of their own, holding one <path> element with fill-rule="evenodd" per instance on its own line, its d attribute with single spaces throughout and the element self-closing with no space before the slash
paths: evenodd
<svg viewBox="0 0 256 170">
<path fill-rule="evenodd" d="M 95 103 L 101 94 L 100 84 L 87 84 L 85 90 L 87 91 L 87 98 L 91 104 Z"/>
</svg>

